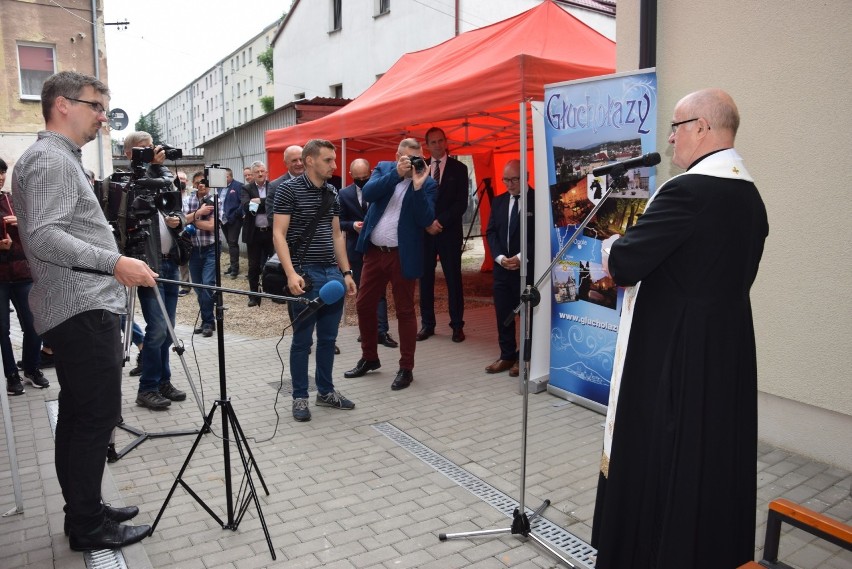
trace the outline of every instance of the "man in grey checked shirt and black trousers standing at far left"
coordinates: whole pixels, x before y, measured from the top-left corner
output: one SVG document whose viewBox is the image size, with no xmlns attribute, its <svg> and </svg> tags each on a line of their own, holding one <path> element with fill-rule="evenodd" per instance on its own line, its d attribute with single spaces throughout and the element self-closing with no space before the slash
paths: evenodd
<svg viewBox="0 0 852 569">
<path fill-rule="evenodd" d="M 12 176 L 19 235 L 33 274 L 35 329 L 53 348 L 61 388 L 56 477 L 74 551 L 121 548 L 151 530 L 121 525 L 139 508 L 101 500 L 106 448 L 121 414 L 124 287 L 153 287 L 157 276 L 143 261 L 118 252 L 83 171 L 81 147 L 107 122 L 108 100 L 109 89 L 95 77 L 74 71 L 49 77 L 41 92 L 46 128 Z"/>
</svg>

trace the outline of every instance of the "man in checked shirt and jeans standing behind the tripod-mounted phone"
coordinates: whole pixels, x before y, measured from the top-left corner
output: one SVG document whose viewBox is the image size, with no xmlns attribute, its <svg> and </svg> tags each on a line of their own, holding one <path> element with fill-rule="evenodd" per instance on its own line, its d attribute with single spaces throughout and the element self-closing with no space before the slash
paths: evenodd
<svg viewBox="0 0 852 569">
<path fill-rule="evenodd" d="M 208 286 L 216 285 L 216 220 L 213 215 L 213 196 L 207 187 L 204 171 L 199 170 L 192 175 L 192 185 L 195 195 L 189 196 L 184 213 L 186 222 L 195 226 L 192 236 L 192 254 L 189 256 L 189 274 L 192 282 Z M 201 310 L 201 326 L 195 329 L 196 334 L 205 338 L 213 335 L 216 322 L 213 319 L 213 291 L 196 288 L 198 307 Z"/>
</svg>

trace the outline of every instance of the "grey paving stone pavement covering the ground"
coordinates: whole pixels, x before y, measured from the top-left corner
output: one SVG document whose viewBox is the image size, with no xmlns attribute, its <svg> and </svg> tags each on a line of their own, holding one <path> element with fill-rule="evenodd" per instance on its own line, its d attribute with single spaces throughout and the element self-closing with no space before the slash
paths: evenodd
<svg viewBox="0 0 852 569">
<path fill-rule="evenodd" d="M 415 381 L 399 392 L 390 390 L 398 352 L 381 346 L 380 370 L 343 379 L 343 371 L 355 364 L 360 349 L 355 341 L 358 330 L 341 329 L 335 385 L 355 401 L 356 408 L 315 407 L 312 392 L 313 419 L 307 423 L 296 423 L 290 415 L 289 337 L 279 342 L 226 334 L 227 395 L 269 489 L 267 496 L 259 485 L 258 471 L 252 472 L 277 560 L 270 556 L 253 503 L 236 531 L 222 529 L 178 486 L 154 535 L 123 550 L 129 569 L 565 566 L 537 544 L 511 535 L 439 541 L 439 533 L 506 528 L 511 520 L 374 427 L 385 422 L 394 425 L 517 499 L 522 398 L 508 375 L 484 372 L 497 351 L 493 312 L 488 308 L 468 311 L 466 320 L 464 343 L 450 341 L 446 315 L 436 336 L 417 343 Z M 392 331 L 396 332 L 395 323 Z M 204 412 L 173 355 L 173 380 L 190 392 L 187 401 L 173 403 L 163 412 L 137 407 L 136 379 L 125 375 L 126 424 L 152 434 L 191 430 L 213 409 L 220 392 L 216 337 L 193 336 L 189 328 L 179 328 L 178 336 L 185 342 L 186 362 L 199 395 L 203 393 Z M 20 346 L 19 332 L 13 331 L 13 343 L 16 349 Z M 62 531 L 63 501 L 54 472 L 46 404 L 56 399 L 58 385 L 53 370 L 45 375 L 51 381 L 49 389 L 28 387 L 25 395 L 9 398 L 24 512 L 0 518 L 0 567 L 4 569 L 85 567 L 83 556 L 70 551 Z M 526 505 L 535 507 L 550 499 L 545 517 L 586 541 L 591 535 L 602 422 L 597 413 L 547 393 L 529 398 Z M 0 437 L 0 510 L 5 512 L 14 508 L 15 500 L 5 432 Z M 201 438 L 183 480 L 217 516 L 226 519 L 221 437 L 222 417 L 217 409 L 212 433 Z M 229 437 L 233 437 L 230 430 Z M 141 512 L 134 521 L 152 524 L 195 439 L 145 440 L 108 465 L 105 497 L 114 504 L 138 505 Z M 116 446 L 121 449 L 132 440 L 119 431 Z M 244 481 L 243 469 L 234 444 L 230 447 L 236 491 Z M 849 472 L 765 444 L 759 446 L 757 470 L 757 558 L 767 503 L 772 499 L 786 497 L 852 521 Z M 801 569 L 852 569 L 849 552 L 787 526 L 781 556 Z"/>
</svg>

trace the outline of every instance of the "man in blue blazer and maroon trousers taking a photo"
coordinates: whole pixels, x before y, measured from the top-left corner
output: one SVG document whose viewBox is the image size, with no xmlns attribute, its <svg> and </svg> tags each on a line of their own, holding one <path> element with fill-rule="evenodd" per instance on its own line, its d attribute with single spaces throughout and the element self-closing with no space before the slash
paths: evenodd
<svg viewBox="0 0 852 569">
<path fill-rule="evenodd" d="M 371 205 L 356 247 L 364 254 L 356 301 L 361 359 L 343 374 L 348 378 L 361 377 L 382 367 L 376 342 L 376 308 L 390 282 L 400 342 L 399 371 L 391 384 L 393 390 L 405 389 L 414 381 L 414 284 L 423 274 L 423 230 L 435 219 L 437 187 L 417 140 L 406 138 L 400 142 L 396 158 L 396 162 L 379 162 L 363 189 L 364 200 Z"/>
</svg>

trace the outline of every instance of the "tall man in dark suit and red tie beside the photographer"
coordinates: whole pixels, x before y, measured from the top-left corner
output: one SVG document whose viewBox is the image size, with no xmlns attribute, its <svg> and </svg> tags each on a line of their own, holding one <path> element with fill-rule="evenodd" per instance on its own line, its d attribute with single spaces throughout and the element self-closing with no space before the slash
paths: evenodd
<svg viewBox="0 0 852 569">
<path fill-rule="evenodd" d="M 435 334 L 435 267 L 437 257 L 447 282 L 450 328 L 453 342 L 464 341 L 464 291 L 461 282 L 461 247 L 464 227 L 462 216 L 467 210 L 467 166 L 447 154 L 447 136 L 432 127 L 426 131 L 429 148 L 429 172 L 438 183 L 435 196 L 435 219 L 423 236 L 423 276 L 420 278 L 420 321 L 417 340 Z"/>
</svg>

